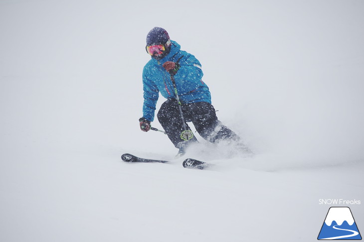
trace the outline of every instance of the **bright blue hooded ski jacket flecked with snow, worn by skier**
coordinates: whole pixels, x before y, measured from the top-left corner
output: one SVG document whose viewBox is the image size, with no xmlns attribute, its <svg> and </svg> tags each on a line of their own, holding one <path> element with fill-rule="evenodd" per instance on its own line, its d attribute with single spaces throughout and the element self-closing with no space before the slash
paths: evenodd
<svg viewBox="0 0 364 242">
<path fill-rule="evenodd" d="M 143 117 L 154 120 L 159 92 L 165 98 L 176 98 L 171 75 L 162 66 L 166 61 L 177 62 L 180 59 L 180 69 L 175 75 L 177 92 L 182 104 L 195 102 L 211 103 L 211 94 L 202 81 L 202 70 L 199 61 L 181 45 L 171 41 L 171 51 L 161 60 L 152 58 L 143 69 L 144 104 Z"/>
</svg>

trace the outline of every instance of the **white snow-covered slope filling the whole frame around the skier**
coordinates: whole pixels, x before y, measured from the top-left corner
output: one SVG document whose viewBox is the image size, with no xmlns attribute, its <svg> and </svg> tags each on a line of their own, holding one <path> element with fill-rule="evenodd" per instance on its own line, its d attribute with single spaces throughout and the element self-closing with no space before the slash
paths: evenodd
<svg viewBox="0 0 364 242">
<path fill-rule="evenodd" d="M 0 0 L 0 241 L 316 241 L 340 206 L 320 199 L 362 201 L 341 206 L 363 230 L 363 9 Z M 200 139 L 188 156 L 209 170 L 121 161 L 177 152 L 137 121 L 154 26 L 200 60 L 217 116 L 254 157 Z"/>
</svg>

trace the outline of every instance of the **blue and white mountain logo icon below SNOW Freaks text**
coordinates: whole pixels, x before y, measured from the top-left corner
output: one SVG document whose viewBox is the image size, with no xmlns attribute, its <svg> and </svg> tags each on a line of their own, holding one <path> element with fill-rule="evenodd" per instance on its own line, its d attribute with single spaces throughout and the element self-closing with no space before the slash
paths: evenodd
<svg viewBox="0 0 364 242">
<path fill-rule="evenodd" d="M 350 208 L 331 207 L 317 239 L 362 240 Z"/>
</svg>

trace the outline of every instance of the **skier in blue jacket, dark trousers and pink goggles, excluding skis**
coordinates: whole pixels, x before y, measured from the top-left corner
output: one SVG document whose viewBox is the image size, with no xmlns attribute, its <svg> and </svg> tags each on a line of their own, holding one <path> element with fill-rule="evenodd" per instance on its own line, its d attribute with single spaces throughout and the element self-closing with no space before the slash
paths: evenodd
<svg viewBox="0 0 364 242">
<path fill-rule="evenodd" d="M 186 122 L 192 122 L 198 134 L 209 142 L 240 143 L 240 138 L 217 119 L 210 91 L 201 79 L 201 64 L 192 54 L 182 51 L 180 44 L 171 40 L 161 27 L 154 27 L 148 33 L 146 50 L 152 58 L 143 69 L 143 117 L 139 119 L 142 131 L 151 129 L 161 92 L 167 101 L 157 117 L 179 149 L 177 156 L 197 142 Z"/>
</svg>

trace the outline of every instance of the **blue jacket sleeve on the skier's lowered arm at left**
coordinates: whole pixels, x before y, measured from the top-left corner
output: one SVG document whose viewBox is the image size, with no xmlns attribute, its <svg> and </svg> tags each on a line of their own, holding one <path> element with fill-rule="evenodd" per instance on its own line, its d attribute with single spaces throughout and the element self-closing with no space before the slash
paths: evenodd
<svg viewBox="0 0 364 242">
<path fill-rule="evenodd" d="M 143 117 L 152 122 L 154 120 L 159 90 L 157 85 L 149 78 L 146 68 L 143 70 L 143 91 Z"/>
</svg>

